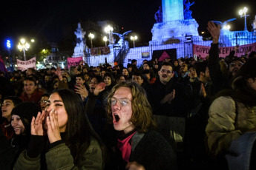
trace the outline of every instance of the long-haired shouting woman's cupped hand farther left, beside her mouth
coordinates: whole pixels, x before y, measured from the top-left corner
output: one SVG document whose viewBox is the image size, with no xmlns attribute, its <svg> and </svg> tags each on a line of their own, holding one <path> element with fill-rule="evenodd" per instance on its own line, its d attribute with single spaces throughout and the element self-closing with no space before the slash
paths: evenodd
<svg viewBox="0 0 256 170">
<path fill-rule="evenodd" d="M 38 112 L 36 118 L 33 117 L 31 120 L 31 135 L 42 136 L 45 135 L 43 126 L 45 124 L 45 111 Z"/>
</svg>

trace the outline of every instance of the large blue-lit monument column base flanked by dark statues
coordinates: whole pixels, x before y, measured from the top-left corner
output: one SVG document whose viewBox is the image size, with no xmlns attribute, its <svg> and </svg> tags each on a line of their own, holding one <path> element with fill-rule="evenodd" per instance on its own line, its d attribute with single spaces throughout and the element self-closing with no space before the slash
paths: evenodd
<svg viewBox="0 0 256 170">
<path fill-rule="evenodd" d="M 191 17 L 192 12 L 189 10 L 193 4 L 189 0 L 162 0 L 162 7 L 155 13 L 157 23 L 151 30 L 151 43 L 171 39 L 184 40 L 186 35 L 202 39 L 198 34 L 197 21 Z"/>
</svg>

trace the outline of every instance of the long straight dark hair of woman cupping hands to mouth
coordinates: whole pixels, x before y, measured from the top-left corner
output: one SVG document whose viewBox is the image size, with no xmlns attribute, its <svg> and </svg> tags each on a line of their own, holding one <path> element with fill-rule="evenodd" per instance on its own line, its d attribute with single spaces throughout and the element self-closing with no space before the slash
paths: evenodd
<svg viewBox="0 0 256 170">
<path fill-rule="evenodd" d="M 95 138 L 101 146 L 102 160 L 105 160 L 105 146 L 93 130 L 85 114 L 82 100 L 70 89 L 59 89 L 54 92 L 58 93 L 62 98 L 66 112 L 68 113 L 65 143 L 70 149 L 74 163 L 78 163 L 82 159 L 91 144 L 92 138 Z"/>
</svg>

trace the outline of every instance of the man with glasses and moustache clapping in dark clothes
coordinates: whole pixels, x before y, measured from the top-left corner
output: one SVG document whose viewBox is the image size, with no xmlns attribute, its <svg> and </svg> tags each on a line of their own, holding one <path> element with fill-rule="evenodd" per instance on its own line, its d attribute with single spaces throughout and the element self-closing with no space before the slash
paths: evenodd
<svg viewBox="0 0 256 170">
<path fill-rule="evenodd" d="M 185 118 L 191 108 L 189 96 L 183 84 L 173 81 L 173 65 L 164 62 L 158 71 L 158 78 L 148 91 L 148 100 L 157 120 L 157 132 L 179 150 L 183 150 Z M 180 145 L 181 144 L 181 145 Z"/>
</svg>

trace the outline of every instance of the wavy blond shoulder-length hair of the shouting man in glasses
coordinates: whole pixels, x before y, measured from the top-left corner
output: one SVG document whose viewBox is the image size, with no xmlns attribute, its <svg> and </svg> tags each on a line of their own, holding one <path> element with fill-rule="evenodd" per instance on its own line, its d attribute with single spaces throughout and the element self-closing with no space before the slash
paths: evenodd
<svg viewBox="0 0 256 170">
<path fill-rule="evenodd" d="M 113 121 L 111 110 L 111 98 L 113 97 L 116 90 L 120 87 L 127 87 L 131 89 L 131 122 L 134 124 L 134 127 L 135 129 L 137 129 L 137 132 L 145 133 L 148 132 L 148 130 L 150 129 L 154 129 L 156 127 L 156 123 L 152 113 L 151 105 L 148 103 L 145 90 L 137 83 L 131 81 L 116 84 L 112 88 L 111 92 L 108 94 L 108 97 L 105 100 L 105 108 L 107 112 L 108 122 L 112 123 Z"/>
</svg>

